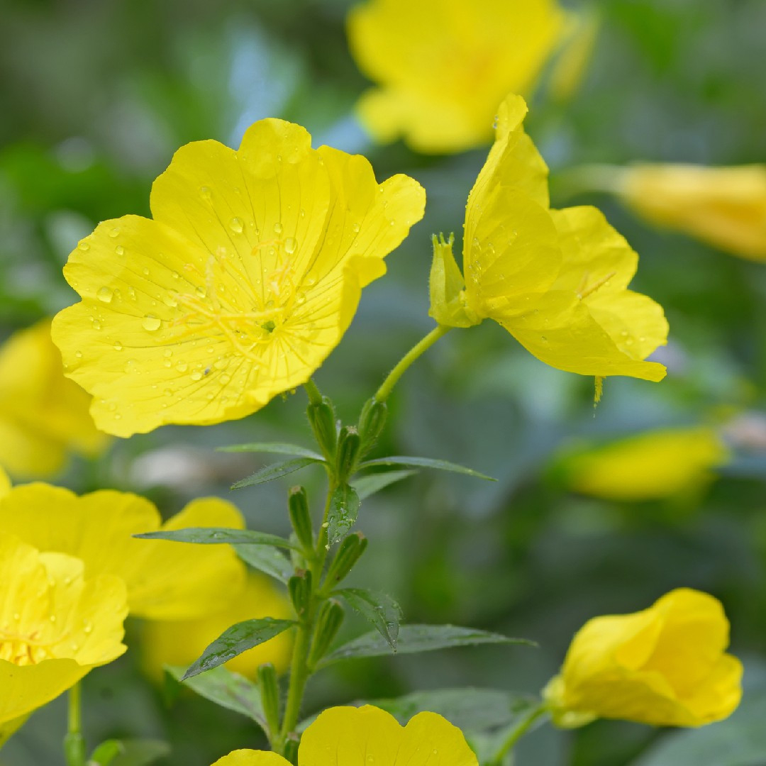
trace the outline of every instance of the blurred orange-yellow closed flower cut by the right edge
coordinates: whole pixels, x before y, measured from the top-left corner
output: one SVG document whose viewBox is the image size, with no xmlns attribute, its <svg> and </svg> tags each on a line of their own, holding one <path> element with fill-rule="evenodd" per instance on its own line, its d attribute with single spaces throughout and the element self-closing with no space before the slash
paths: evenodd
<svg viewBox="0 0 766 766">
<path fill-rule="evenodd" d="M 647 221 L 766 261 L 766 165 L 637 164 L 620 169 L 615 183 Z"/>
</svg>

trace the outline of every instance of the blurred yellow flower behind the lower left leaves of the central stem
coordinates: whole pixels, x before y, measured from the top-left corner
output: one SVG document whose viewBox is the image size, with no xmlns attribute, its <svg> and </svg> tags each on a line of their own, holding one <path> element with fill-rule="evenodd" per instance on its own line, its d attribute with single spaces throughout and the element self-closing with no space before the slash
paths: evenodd
<svg viewBox="0 0 766 766">
<path fill-rule="evenodd" d="M 250 575 L 239 590 L 227 588 L 220 607 L 197 620 L 152 620 L 142 632 L 143 666 L 154 679 L 162 679 L 165 665 L 188 666 L 228 627 L 256 617 L 294 618 L 290 600 L 263 575 Z M 273 663 L 278 673 L 290 664 L 290 631 L 247 650 L 226 663 L 230 670 L 254 679 L 258 666 Z"/>
</svg>

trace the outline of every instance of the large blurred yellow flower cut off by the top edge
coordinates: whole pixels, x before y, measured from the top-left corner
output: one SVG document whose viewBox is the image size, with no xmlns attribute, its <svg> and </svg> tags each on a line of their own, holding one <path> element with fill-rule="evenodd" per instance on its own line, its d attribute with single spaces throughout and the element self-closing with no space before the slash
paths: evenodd
<svg viewBox="0 0 766 766">
<path fill-rule="evenodd" d="M 497 104 L 530 93 L 565 32 L 556 0 L 368 0 L 349 13 L 358 67 L 379 87 L 358 113 L 376 139 L 420 152 L 489 142 Z"/>
</svg>

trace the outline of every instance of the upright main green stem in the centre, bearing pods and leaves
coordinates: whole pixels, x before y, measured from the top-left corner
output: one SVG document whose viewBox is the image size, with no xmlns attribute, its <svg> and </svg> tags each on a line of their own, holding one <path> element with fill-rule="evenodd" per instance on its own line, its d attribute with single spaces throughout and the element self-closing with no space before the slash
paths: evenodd
<svg viewBox="0 0 766 766">
<path fill-rule="evenodd" d="M 300 717 L 300 708 L 303 703 L 303 693 L 306 691 L 311 673 L 307 664 L 309 658 L 309 649 L 314 633 L 314 618 L 316 617 L 316 607 L 322 600 L 319 591 L 319 581 L 322 570 L 325 566 L 327 557 L 327 517 L 329 516 L 330 502 L 332 502 L 332 493 L 335 491 L 335 483 L 331 480 L 327 489 L 327 501 L 325 503 L 325 512 L 322 516 L 322 525 L 319 527 L 317 535 L 316 548 L 314 549 L 313 560 L 310 562 L 312 574 L 312 594 L 309 602 L 308 613 L 305 614 L 298 625 L 298 634 L 296 635 L 293 646 L 293 660 L 290 663 L 290 685 L 287 689 L 287 701 L 285 703 L 285 712 L 282 719 L 282 726 L 276 741 L 273 742 L 275 751 L 284 755 L 285 746 L 290 735 L 295 731 L 298 719 Z"/>
</svg>

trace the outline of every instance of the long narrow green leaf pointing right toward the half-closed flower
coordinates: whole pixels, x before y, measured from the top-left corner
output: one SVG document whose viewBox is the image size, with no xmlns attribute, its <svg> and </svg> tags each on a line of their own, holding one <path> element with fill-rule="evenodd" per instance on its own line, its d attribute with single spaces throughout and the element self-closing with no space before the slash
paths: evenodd
<svg viewBox="0 0 766 766">
<path fill-rule="evenodd" d="M 483 643 L 523 643 L 535 646 L 532 641 L 522 638 L 509 638 L 499 633 L 486 630 L 474 630 L 455 625 L 403 625 L 399 630 L 397 652 L 414 654 L 431 652 L 437 649 L 453 647 L 471 647 Z M 391 647 L 382 640 L 378 633 L 365 633 L 336 649 L 322 663 L 326 665 L 337 660 L 349 660 L 353 657 L 377 657 L 391 653 Z"/>
</svg>

